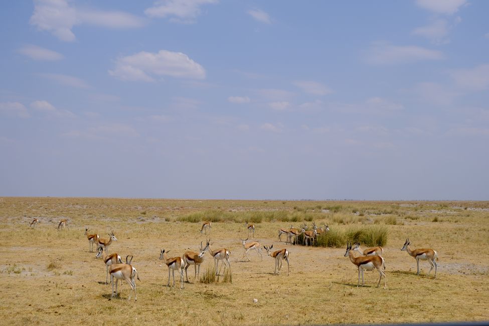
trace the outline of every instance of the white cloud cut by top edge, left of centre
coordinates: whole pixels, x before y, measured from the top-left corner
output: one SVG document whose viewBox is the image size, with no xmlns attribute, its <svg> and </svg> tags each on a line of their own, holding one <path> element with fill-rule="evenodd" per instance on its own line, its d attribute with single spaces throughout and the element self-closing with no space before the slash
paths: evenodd
<svg viewBox="0 0 489 326">
<path fill-rule="evenodd" d="M 201 6 L 216 3 L 217 0 L 161 0 L 154 2 L 144 13 L 149 17 L 171 17 L 172 22 L 194 23 L 201 14 Z"/>
</svg>

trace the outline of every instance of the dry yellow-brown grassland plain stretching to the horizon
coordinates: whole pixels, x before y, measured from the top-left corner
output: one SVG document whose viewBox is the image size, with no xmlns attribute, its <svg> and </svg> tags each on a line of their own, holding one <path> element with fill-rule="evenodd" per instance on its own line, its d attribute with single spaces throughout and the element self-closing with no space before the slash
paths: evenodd
<svg viewBox="0 0 489 326">
<path fill-rule="evenodd" d="M 30 229 L 37 217 L 41 223 Z M 68 229 L 57 231 L 60 219 Z M 168 269 L 158 260 L 197 251 L 205 235 L 201 221 L 212 221 L 213 249 L 231 251 L 232 274 L 218 283 L 166 287 Z M 274 260 L 250 251 L 242 259 L 243 223 L 256 225 L 256 240 L 290 251 L 272 275 Z M 327 223 L 339 244 L 293 246 L 278 241 L 278 229 L 291 224 Z M 384 246 L 388 289 L 376 288 L 377 271 L 365 272 L 357 288 L 357 269 L 345 247 L 352 230 L 387 230 Z M 83 235 L 85 227 L 102 237 L 114 231 L 109 252 L 134 255 L 138 300 L 109 300 L 105 267 Z M 304 324 L 392 323 L 488 320 L 489 202 L 330 202 L 141 200 L 100 198 L 0 198 L 0 312 L 2 324 Z M 437 278 L 429 264 L 401 252 L 411 248 L 438 252 Z M 285 240 L 285 236 L 282 236 Z M 341 247 L 340 247 L 341 246 Z M 365 247 L 365 246 L 364 246 Z M 213 266 L 206 254 L 201 276 Z M 194 267 L 189 268 L 193 282 Z M 433 275 L 433 272 L 432 272 Z M 206 275 L 209 276 L 209 275 Z M 232 282 L 230 282 L 232 280 Z M 257 299 L 254 302 L 253 299 Z"/>
</svg>

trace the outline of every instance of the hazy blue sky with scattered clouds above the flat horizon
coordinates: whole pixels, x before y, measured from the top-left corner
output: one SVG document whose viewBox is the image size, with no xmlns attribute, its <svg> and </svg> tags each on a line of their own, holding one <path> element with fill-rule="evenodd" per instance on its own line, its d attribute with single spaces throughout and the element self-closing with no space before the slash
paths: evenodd
<svg viewBox="0 0 489 326">
<path fill-rule="evenodd" d="M 489 2 L 1 6 L 1 196 L 489 200 Z"/>
</svg>

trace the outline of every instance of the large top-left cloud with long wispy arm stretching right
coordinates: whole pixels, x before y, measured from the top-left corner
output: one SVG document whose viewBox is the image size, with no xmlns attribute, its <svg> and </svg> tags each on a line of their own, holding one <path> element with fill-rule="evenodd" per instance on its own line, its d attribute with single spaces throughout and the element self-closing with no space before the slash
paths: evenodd
<svg viewBox="0 0 489 326">
<path fill-rule="evenodd" d="M 30 24 L 41 31 L 52 33 L 61 41 L 75 41 L 73 26 L 89 24 L 109 28 L 135 28 L 144 21 L 123 12 L 102 12 L 91 9 L 77 9 L 66 0 L 35 0 L 34 13 Z"/>
</svg>

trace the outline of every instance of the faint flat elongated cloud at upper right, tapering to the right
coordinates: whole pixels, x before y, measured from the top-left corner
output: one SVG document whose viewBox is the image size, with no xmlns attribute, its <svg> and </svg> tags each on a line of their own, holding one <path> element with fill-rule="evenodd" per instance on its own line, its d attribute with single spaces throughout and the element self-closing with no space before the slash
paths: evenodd
<svg viewBox="0 0 489 326">
<path fill-rule="evenodd" d="M 366 61 L 374 65 L 395 65 L 425 60 L 441 60 L 443 53 L 417 46 L 394 46 L 374 43 L 367 52 Z"/>
</svg>

